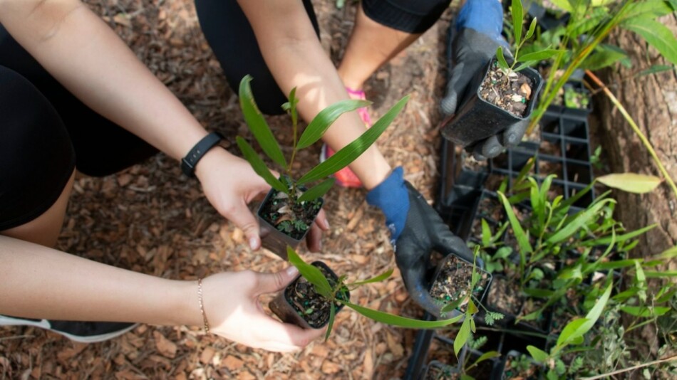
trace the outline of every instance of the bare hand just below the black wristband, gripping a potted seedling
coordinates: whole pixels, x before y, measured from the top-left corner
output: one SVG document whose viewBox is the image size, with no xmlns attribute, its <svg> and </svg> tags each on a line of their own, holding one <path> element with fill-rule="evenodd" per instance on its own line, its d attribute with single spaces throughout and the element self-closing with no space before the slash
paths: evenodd
<svg viewBox="0 0 677 380">
<path fill-rule="evenodd" d="M 212 206 L 244 231 L 252 250 L 259 249 L 259 222 L 247 204 L 265 196 L 270 185 L 254 172 L 249 162 L 218 147 L 210 149 L 197 163 L 195 175 Z M 321 210 L 306 236 L 311 252 L 319 252 L 323 230 L 329 230 L 329 222 L 324 210 Z"/>
</svg>

